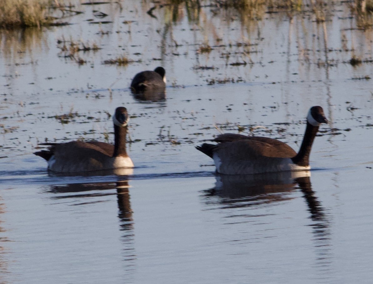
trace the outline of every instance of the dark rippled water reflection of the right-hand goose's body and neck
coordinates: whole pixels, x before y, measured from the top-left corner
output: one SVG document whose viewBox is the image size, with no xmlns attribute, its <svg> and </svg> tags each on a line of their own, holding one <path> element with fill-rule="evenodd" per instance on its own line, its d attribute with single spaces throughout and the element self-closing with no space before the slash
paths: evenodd
<svg viewBox="0 0 373 284">
<path fill-rule="evenodd" d="M 299 189 L 310 213 L 312 241 L 317 253 L 316 266 L 330 265 L 330 221 L 325 208 L 312 190 L 310 171 L 282 172 L 264 175 L 216 176 L 214 188 L 202 191 L 206 204 L 219 209 L 256 208 L 264 204 L 292 200 L 290 194 Z M 215 207 L 216 208 L 216 207 Z M 233 216 L 234 217 L 234 216 Z"/>
</svg>

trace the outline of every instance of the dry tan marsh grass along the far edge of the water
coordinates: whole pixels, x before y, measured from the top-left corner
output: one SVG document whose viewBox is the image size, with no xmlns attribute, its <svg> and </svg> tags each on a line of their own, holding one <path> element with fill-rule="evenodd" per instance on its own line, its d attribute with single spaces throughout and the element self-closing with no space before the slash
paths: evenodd
<svg viewBox="0 0 373 284">
<path fill-rule="evenodd" d="M 98 0 L 97 0 L 98 1 Z M 81 5 L 100 4 L 95 0 L 87 0 Z M 123 0 L 110 0 L 113 3 L 120 5 Z M 75 3 L 74 3 L 75 2 Z M 102 3 L 102 2 L 101 2 Z M 107 3 L 107 2 L 106 2 Z M 148 13 L 154 9 L 164 6 L 178 6 L 184 4 L 193 7 L 211 6 L 220 7 L 223 9 L 233 8 L 239 11 L 242 16 L 247 16 L 251 19 L 260 19 L 259 14 L 263 12 L 274 13 L 279 11 L 284 12 L 302 12 L 302 10 L 311 9 L 316 15 L 316 20 L 319 22 L 325 21 L 325 10 L 327 6 L 333 5 L 336 2 L 328 0 L 162 0 L 154 1 Z M 357 16 L 358 21 L 365 29 L 372 28 L 373 16 L 373 0 L 348 0 L 341 1 L 349 5 L 351 14 Z M 0 28 L 14 29 L 25 27 L 45 27 L 67 25 L 68 22 L 61 20 L 69 14 L 79 14 L 83 12 L 72 10 L 74 4 L 79 4 L 78 0 L 1 0 L 0 1 Z M 57 13 L 62 14 L 56 17 Z"/>
</svg>

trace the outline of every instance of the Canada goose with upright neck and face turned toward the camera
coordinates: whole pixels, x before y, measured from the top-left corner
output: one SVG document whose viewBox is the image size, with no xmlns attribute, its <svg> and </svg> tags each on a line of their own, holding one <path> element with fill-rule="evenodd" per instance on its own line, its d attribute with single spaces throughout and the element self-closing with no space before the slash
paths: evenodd
<svg viewBox="0 0 373 284">
<path fill-rule="evenodd" d="M 126 151 L 126 135 L 129 116 L 127 109 L 118 107 L 113 115 L 114 145 L 90 141 L 67 143 L 43 143 L 48 150 L 35 152 L 48 161 L 48 170 L 57 173 L 79 173 L 90 171 L 132 168 L 131 158 Z"/>
</svg>

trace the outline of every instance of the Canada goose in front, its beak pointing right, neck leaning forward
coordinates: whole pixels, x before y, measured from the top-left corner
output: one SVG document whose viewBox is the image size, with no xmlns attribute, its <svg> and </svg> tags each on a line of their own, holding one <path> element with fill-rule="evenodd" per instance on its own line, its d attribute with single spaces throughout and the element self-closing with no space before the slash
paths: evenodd
<svg viewBox="0 0 373 284">
<path fill-rule="evenodd" d="M 320 123 L 328 123 L 322 107 L 311 107 L 298 154 L 287 144 L 267 137 L 222 134 L 195 148 L 214 159 L 216 171 L 226 175 L 309 170 L 309 156 Z"/>
</svg>

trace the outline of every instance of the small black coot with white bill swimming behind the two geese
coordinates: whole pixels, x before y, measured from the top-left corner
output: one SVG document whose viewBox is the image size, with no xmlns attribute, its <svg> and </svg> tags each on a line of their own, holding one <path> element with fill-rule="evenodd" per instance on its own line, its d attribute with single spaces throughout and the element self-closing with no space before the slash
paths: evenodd
<svg viewBox="0 0 373 284">
<path fill-rule="evenodd" d="M 131 89 L 142 92 L 149 89 L 166 88 L 166 71 L 163 67 L 157 67 L 154 71 L 142 71 L 132 79 Z"/>
</svg>

